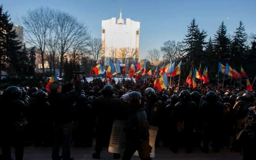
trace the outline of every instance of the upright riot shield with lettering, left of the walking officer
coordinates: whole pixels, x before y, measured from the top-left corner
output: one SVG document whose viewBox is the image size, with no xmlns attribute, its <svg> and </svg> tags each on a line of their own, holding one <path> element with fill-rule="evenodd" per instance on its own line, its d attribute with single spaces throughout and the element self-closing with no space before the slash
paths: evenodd
<svg viewBox="0 0 256 160">
<path fill-rule="evenodd" d="M 125 128 L 127 127 L 127 121 L 115 120 L 112 127 L 112 132 L 109 141 L 110 153 L 123 153 L 125 149 Z"/>
</svg>

